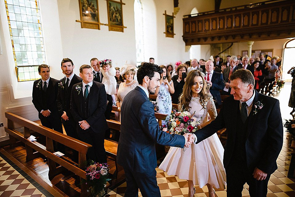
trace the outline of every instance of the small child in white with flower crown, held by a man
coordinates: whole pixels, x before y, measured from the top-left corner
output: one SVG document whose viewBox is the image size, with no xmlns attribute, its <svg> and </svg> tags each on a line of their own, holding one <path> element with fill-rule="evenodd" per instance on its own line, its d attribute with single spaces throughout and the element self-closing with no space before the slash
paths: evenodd
<svg viewBox="0 0 295 197">
<path fill-rule="evenodd" d="M 112 112 L 112 105 L 113 103 L 116 103 L 116 69 L 112 67 L 112 60 L 109 59 L 102 60 L 99 62 L 99 64 L 102 67 L 101 73 L 104 76 L 102 79 L 102 83 L 105 86 L 108 100 L 107 109 L 105 111 L 105 118 L 109 120 Z"/>
</svg>

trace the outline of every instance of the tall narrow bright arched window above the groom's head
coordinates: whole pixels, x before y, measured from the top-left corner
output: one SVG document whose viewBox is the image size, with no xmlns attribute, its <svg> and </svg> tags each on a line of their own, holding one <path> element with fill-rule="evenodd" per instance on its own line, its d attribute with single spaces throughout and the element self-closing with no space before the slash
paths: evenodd
<svg viewBox="0 0 295 197">
<path fill-rule="evenodd" d="M 143 10 L 140 0 L 134 1 L 136 64 L 139 66 L 144 61 L 144 26 Z"/>
</svg>

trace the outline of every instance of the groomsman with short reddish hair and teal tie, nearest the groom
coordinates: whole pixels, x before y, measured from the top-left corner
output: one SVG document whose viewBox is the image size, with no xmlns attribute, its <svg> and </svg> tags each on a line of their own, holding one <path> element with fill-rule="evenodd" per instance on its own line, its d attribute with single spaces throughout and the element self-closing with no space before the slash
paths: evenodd
<svg viewBox="0 0 295 197">
<path fill-rule="evenodd" d="M 91 144 L 87 157 L 90 160 L 106 163 L 104 135 L 108 129 L 104 112 L 107 106 L 107 94 L 104 85 L 93 81 L 92 68 L 80 67 L 82 82 L 73 85 L 70 112 L 77 125 L 78 137 Z"/>
</svg>

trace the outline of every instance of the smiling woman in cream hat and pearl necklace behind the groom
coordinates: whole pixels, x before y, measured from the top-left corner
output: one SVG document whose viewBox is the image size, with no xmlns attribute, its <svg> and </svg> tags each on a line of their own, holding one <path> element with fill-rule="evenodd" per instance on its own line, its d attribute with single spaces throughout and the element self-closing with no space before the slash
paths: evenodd
<svg viewBox="0 0 295 197">
<path fill-rule="evenodd" d="M 126 94 L 133 90 L 138 82 L 134 77 L 136 75 L 136 67 L 131 64 L 126 64 L 120 69 L 120 74 L 125 82 L 120 83 L 117 93 L 116 105 L 118 110 L 121 111 L 121 105 Z"/>
</svg>

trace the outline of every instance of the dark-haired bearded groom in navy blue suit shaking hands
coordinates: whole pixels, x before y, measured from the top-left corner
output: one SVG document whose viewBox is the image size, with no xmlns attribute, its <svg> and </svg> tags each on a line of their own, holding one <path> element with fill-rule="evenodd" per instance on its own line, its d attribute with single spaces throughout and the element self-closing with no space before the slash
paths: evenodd
<svg viewBox="0 0 295 197">
<path fill-rule="evenodd" d="M 121 106 L 117 161 L 125 171 L 125 197 L 138 196 L 138 189 L 143 197 L 161 196 L 156 180 L 155 143 L 180 148 L 190 144 L 184 136 L 170 135 L 159 129 L 154 105 L 148 96 L 160 86 L 161 73 L 163 69 L 159 66 L 144 63 L 137 71 L 139 85 L 124 97 Z"/>
</svg>

